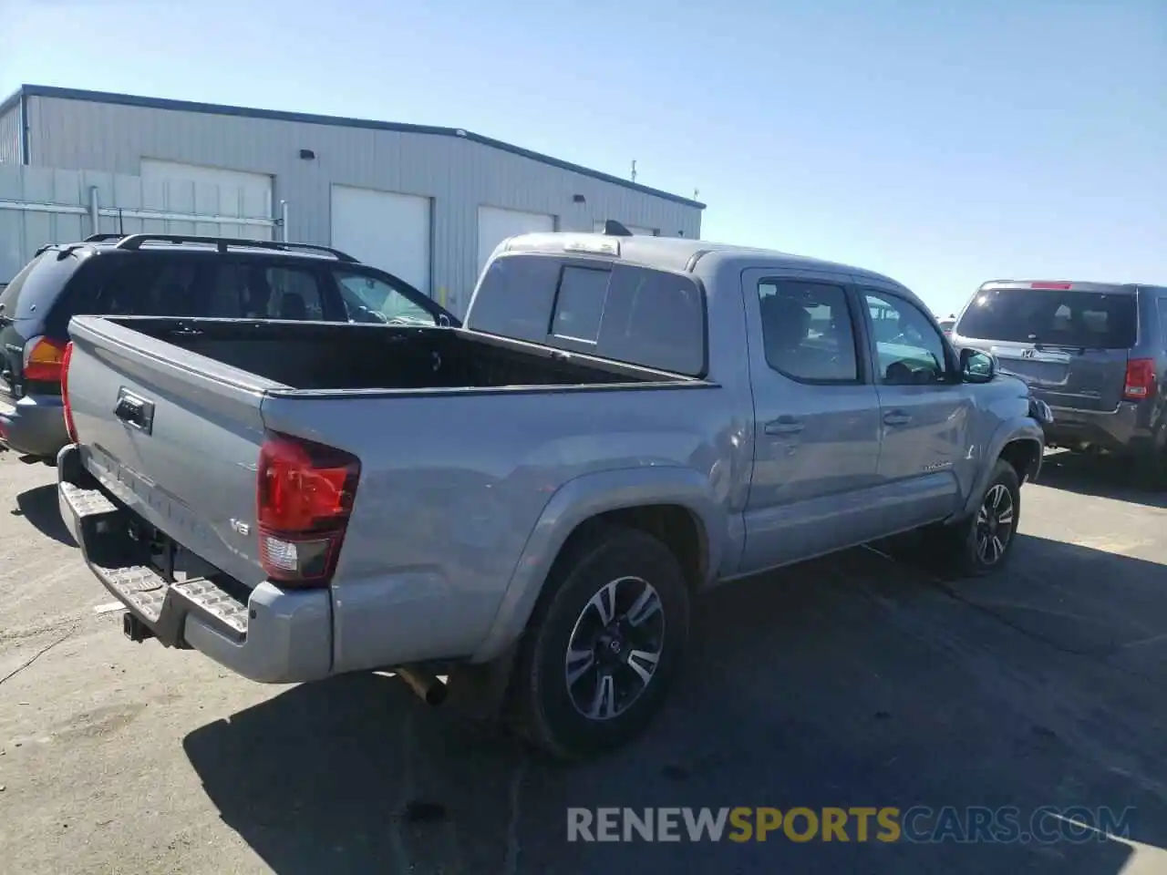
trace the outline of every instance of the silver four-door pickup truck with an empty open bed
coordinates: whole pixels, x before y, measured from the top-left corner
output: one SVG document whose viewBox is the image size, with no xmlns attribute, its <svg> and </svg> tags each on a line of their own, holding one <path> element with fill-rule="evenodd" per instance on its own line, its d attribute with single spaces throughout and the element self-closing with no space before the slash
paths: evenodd
<svg viewBox="0 0 1167 875">
<path fill-rule="evenodd" d="M 1048 416 L 900 284 L 698 240 L 512 238 L 464 328 L 69 330 L 61 512 L 131 638 L 464 684 L 565 757 L 648 722 L 717 582 L 924 526 L 1000 567 Z"/>
</svg>

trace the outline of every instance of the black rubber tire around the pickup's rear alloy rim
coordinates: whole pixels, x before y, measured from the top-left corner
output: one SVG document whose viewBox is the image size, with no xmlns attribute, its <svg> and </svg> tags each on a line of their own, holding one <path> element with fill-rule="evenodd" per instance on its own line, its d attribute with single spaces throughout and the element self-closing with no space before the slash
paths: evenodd
<svg viewBox="0 0 1167 875">
<path fill-rule="evenodd" d="M 581 638 L 587 637 L 588 622 L 599 623 L 599 608 L 592 604 L 593 597 L 600 597 L 601 590 L 610 582 L 622 579 L 627 582 L 616 584 L 617 600 L 647 592 L 638 588 L 635 579 L 651 584 L 656 592 L 659 611 L 643 620 L 641 625 L 630 628 L 637 636 L 661 629 L 656 667 L 640 692 L 633 695 L 635 690 L 631 687 L 641 676 L 633 677 L 633 668 L 627 664 L 631 657 L 614 657 L 609 648 L 593 644 L 593 652 L 599 653 L 594 660 L 598 666 L 596 682 L 589 687 L 591 677 L 585 674 L 569 691 L 567 654 L 573 632 L 579 628 L 578 651 Z M 624 587 L 627 596 L 621 594 L 621 587 Z M 659 618 L 656 612 L 659 612 Z M 656 538 L 636 530 L 603 527 L 573 545 L 571 553 L 557 562 L 546 581 L 519 648 L 511 690 L 520 734 L 558 760 L 586 757 L 620 747 L 637 736 L 659 709 L 682 664 L 689 640 L 689 587 L 680 564 Z M 614 614 L 619 618 L 620 610 Z M 635 652 L 633 644 L 626 645 L 624 653 L 629 652 Z M 626 684 L 629 687 L 626 691 L 627 707 L 603 719 L 581 713 L 576 702 L 581 694 L 588 694 L 589 688 L 592 693 L 588 698 L 593 705 L 598 698 L 607 701 L 606 696 L 598 695 L 605 670 L 600 667 L 600 660 L 619 658 L 624 659 L 624 665 L 612 666 L 609 674 L 614 680 L 607 690 L 620 690 L 616 679 L 621 684 L 630 681 Z M 608 665 L 608 662 L 602 663 L 602 666 Z M 613 701 L 617 695 L 614 692 Z"/>
</svg>

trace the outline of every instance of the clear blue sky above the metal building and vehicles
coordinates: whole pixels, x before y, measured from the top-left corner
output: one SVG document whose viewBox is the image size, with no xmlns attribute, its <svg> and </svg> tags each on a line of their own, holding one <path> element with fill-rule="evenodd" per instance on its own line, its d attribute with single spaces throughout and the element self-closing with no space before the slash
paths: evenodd
<svg viewBox="0 0 1167 875">
<path fill-rule="evenodd" d="M 1167 284 L 1167 0 L 0 0 L 22 82 L 448 125 L 888 273 Z M 941 314 L 943 315 L 943 314 Z"/>
</svg>

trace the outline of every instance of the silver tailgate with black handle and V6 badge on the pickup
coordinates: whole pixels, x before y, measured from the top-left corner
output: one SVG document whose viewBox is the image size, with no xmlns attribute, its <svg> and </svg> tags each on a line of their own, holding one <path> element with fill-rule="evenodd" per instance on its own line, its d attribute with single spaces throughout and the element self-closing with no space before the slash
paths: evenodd
<svg viewBox="0 0 1167 875">
<path fill-rule="evenodd" d="M 249 587 L 260 404 L 280 384 L 93 316 L 69 326 L 85 467 L 147 523 Z"/>
</svg>

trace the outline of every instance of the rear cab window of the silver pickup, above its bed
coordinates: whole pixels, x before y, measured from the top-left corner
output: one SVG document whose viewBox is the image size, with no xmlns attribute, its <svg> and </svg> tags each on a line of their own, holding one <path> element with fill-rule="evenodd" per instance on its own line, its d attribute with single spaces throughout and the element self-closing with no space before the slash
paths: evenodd
<svg viewBox="0 0 1167 875">
<path fill-rule="evenodd" d="M 705 299 L 683 274 L 550 256 L 504 256 L 482 278 L 467 328 L 699 377 Z"/>
</svg>

